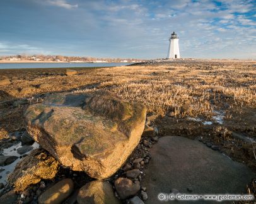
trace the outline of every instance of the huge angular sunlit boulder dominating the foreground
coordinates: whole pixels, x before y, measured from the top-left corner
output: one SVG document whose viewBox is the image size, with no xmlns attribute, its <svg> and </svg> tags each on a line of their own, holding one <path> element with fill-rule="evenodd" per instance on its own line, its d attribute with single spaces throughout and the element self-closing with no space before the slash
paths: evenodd
<svg viewBox="0 0 256 204">
<path fill-rule="evenodd" d="M 146 107 L 110 92 L 61 93 L 25 112 L 28 132 L 64 166 L 104 179 L 139 143 Z"/>
</svg>

